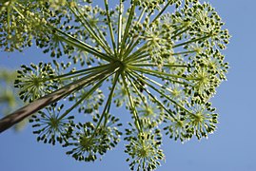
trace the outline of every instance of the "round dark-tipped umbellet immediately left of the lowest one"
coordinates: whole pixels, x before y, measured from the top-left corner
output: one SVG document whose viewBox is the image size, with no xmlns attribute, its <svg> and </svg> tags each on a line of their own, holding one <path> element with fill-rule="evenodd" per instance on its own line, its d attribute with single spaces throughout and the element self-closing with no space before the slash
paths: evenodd
<svg viewBox="0 0 256 171">
<path fill-rule="evenodd" d="M 99 117 L 99 115 L 96 115 L 93 122 L 97 123 Z M 95 161 L 99 155 L 102 156 L 109 149 L 115 147 L 122 134 L 116 126 L 121 124 L 117 123 L 119 120 L 113 116 L 108 115 L 108 118 L 109 121 L 105 125 L 96 125 L 89 122 L 76 124 L 74 126 L 76 130 L 72 130 L 68 142 L 63 145 L 65 147 L 69 146 L 69 148 L 72 147 L 67 154 L 78 161 Z M 74 127 L 72 126 L 70 129 Z"/>
</svg>

